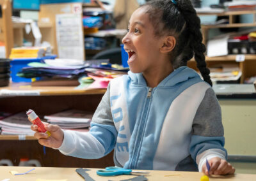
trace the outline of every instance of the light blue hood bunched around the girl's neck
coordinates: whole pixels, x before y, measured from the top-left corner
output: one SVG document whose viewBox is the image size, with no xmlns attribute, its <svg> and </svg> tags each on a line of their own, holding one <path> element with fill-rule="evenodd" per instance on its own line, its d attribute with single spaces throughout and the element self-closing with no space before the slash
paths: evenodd
<svg viewBox="0 0 256 181">
<path fill-rule="evenodd" d="M 132 83 L 137 85 L 147 86 L 147 82 L 143 77 L 142 73 L 132 73 L 128 72 L 128 76 L 131 78 Z M 194 69 L 188 68 L 187 66 L 182 66 L 175 69 L 170 75 L 166 76 L 157 87 L 173 87 L 182 82 L 186 82 L 189 79 L 202 80 L 198 73 Z M 203 81 L 203 80 L 202 80 Z"/>
</svg>

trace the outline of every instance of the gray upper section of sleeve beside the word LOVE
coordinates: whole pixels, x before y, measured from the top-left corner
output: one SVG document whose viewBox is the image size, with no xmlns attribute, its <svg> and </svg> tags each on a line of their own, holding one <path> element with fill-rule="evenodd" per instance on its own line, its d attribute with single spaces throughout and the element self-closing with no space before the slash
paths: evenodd
<svg viewBox="0 0 256 181">
<path fill-rule="evenodd" d="M 104 96 L 102 97 L 99 106 L 97 107 L 92 122 L 98 123 L 98 124 L 109 124 L 114 126 L 111 108 L 110 108 L 110 87 L 108 85 L 108 89 L 105 92 Z"/>
</svg>

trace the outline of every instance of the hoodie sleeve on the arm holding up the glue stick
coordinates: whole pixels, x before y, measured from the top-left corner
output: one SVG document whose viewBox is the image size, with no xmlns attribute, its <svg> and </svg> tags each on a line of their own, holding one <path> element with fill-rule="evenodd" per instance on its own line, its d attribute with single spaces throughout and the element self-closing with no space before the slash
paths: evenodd
<svg viewBox="0 0 256 181">
<path fill-rule="evenodd" d="M 84 159 L 97 159 L 105 156 L 115 147 L 115 129 L 109 102 L 109 87 L 95 111 L 88 133 L 64 131 L 60 148 L 62 154 Z"/>
</svg>

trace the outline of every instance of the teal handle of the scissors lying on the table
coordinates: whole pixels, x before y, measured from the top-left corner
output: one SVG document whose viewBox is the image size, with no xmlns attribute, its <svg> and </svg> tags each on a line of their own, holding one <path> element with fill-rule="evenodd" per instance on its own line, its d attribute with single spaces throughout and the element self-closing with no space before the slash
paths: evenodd
<svg viewBox="0 0 256 181">
<path fill-rule="evenodd" d="M 109 166 L 105 170 L 97 170 L 97 175 L 100 176 L 115 176 L 115 175 L 130 175 L 132 170 L 124 169 L 116 166 Z"/>
</svg>

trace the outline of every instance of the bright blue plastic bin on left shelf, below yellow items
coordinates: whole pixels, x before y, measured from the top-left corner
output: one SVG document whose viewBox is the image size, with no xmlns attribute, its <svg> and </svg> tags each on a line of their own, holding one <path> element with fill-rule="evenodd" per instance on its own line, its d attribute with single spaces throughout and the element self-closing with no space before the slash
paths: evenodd
<svg viewBox="0 0 256 181">
<path fill-rule="evenodd" d="M 53 56 L 47 56 L 42 58 L 32 58 L 32 59 L 13 59 L 10 61 L 10 71 L 11 71 L 11 77 L 12 82 L 31 82 L 31 78 L 24 78 L 17 76 L 17 73 L 21 71 L 22 68 L 28 67 L 28 64 L 30 62 L 43 62 L 44 59 L 55 59 L 56 55 Z M 40 77 L 36 77 L 36 80 L 40 80 Z"/>
</svg>

